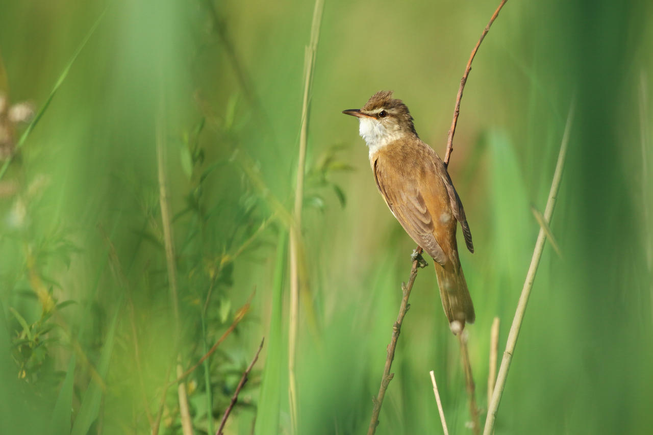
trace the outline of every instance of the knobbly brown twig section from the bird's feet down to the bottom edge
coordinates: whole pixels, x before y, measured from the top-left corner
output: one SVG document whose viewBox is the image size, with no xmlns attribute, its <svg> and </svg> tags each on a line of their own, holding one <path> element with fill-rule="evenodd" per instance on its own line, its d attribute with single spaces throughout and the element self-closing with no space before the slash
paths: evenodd
<svg viewBox="0 0 653 435">
<path fill-rule="evenodd" d="M 413 289 L 413 283 L 415 283 L 415 278 L 417 278 L 417 271 L 420 267 L 424 267 L 424 259 L 421 257 L 422 248 L 417 248 L 415 250 L 415 259 L 413 260 L 413 268 L 410 271 L 410 278 L 408 283 L 402 283 L 402 291 L 404 296 L 402 297 L 402 303 L 399 307 L 399 314 L 397 315 L 397 321 L 392 326 L 392 338 L 390 338 L 390 344 L 387 349 L 387 358 L 385 359 L 385 367 L 383 368 L 383 376 L 381 377 L 381 386 L 379 387 L 379 394 L 372 399 L 374 402 L 374 410 L 372 410 L 372 419 L 370 420 L 370 427 L 368 428 L 368 435 L 374 435 L 376 427 L 379 425 L 379 413 L 381 412 L 381 405 L 383 404 L 383 398 L 385 397 L 385 391 L 388 389 L 388 384 L 394 377 L 394 373 L 390 373 L 390 368 L 392 367 L 392 360 L 394 360 L 394 349 L 397 347 L 397 340 L 402 329 L 402 323 L 404 322 L 404 317 L 408 312 L 410 305 L 408 304 L 408 298 L 410 297 L 410 292 Z"/>
</svg>

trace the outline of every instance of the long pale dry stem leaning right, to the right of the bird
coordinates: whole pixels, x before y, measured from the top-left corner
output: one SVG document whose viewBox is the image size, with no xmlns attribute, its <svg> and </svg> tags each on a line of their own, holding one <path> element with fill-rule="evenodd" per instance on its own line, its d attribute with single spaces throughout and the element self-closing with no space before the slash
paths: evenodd
<svg viewBox="0 0 653 435">
<path fill-rule="evenodd" d="M 547 208 L 544 212 L 544 218 L 547 225 L 550 225 L 551 216 L 553 215 L 553 208 L 556 206 L 556 199 L 558 199 L 558 190 L 560 189 L 560 180 L 562 180 L 562 170 L 565 166 L 565 156 L 567 155 L 567 145 L 569 144 L 569 130 L 571 129 L 572 118 L 573 103 L 571 103 L 571 107 L 569 108 L 567 125 L 565 126 L 565 132 L 562 136 L 560 153 L 558 153 L 558 163 L 556 164 L 556 171 L 553 174 L 553 181 L 551 182 L 551 189 L 549 191 L 549 199 L 547 200 Z M 535 242 L 533 257 L 531 259 L 530 267 L 528 268 L 528 274 L 526 274 L 526 281 L 524 282 L 524 287 L 522 288 L 522 293 L 517 304 L 517 312 L 515 312 L 513 325 L 510 327 L 508 341 L 505 345 L 505 351 L 503 352 L 503 359 L 499 368 L 499 375 L 496 380 L 496 386 L 494 387 L 494 393 L 492 394 L 492 400 L 488 405 L 488 415 L 485 420 L 485 430 L 483 430 L 484 435 L 492 434 L 492 430 L 494 428 L 496 411 L 499 408 L 499 403 L 501 402 L 503 388 L 505 387 L 505 379 L 508 376 L 510 363 L 513 360 L 513 352 L 515 351 L 515 345 L 517 344 L 519 330 L 521 329 L 522 321 L 524 320 L 524 312 L 526 312 L 528 297 L 530 297 L 530 291 L 533 288 L 535 274 L 537 273 L 537 266 L 539 265 L 539 259 L 542 256 L 542 250 L 544 249 L 544 242 L 546 240 L 547 233 L 543 228 L 540 227 L 539 234 L 537 235 L 537 242 Z"/>
</svg>

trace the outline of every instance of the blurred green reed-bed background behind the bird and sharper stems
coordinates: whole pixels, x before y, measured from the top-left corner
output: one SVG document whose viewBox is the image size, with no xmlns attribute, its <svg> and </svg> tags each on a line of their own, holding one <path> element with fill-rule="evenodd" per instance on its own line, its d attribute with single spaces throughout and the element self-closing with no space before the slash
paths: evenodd
<svg viewBox="0 0 653 435">
<path fill-rule="evenodd" d="M 306 161 L 296 355 L 299 434 L 366 432 L 413 242 L 378 195 L 357 122 L 394 89 L 444 154 L 470 50 L 498 2 L 326 1 Z M 106 13 L 65 76 L 66 65 Z M 313 3 L 0 1 L 0 91 L 52 103 L 0 180 L 0 432 L 290 434 L 287 211 Z M 653 426 L 653 3 L 509 1 L 465 89 L 449 166 L 485 420 L 490 325 L 505 346 L 567 113 L 569 155 L 497 434 Z M 5 122 L 0 117 L 0 122 Z M 26 124 L 11 125 L 12 144 Z M 159 135 L 157 136 L 157 131 Z M 176 248 L 164 248 L 157 141 Z M 9 141 L 5 147 L 11 148 Z M 9 149 L 5 148 L 5 149 Z M 7 161 L 7 157 L 1 163 Z M 287 211 L 286 211 L 287 210 Z M 430 261 L 430 259 L 428 259 Z M 435 274 L 411 296 L 377 434 L 470 432 Z M 250 295 L 249 310 L 241 309 Z"/>
</svg>

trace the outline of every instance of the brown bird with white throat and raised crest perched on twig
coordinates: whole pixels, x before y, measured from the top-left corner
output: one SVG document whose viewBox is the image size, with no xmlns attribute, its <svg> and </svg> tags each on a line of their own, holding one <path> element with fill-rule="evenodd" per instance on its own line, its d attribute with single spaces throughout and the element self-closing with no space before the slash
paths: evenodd
<svg viewBox="0 0 653 435">
<path fill-rule="evenodd" d="M 392 91 L 379 91 L 362 108 L 343 113 L 360 120 L 360 136 L 370 148 L 374 180 L 385 203 L 406 233 L 433 257 L 442 306 L 451 331 L 458 334 L 476 316 L 458 259 L 457 222 L 470 252 L 474 246 L 447 168 L 417 136 L 407 106 L 393 99 Z"/>
</svg>

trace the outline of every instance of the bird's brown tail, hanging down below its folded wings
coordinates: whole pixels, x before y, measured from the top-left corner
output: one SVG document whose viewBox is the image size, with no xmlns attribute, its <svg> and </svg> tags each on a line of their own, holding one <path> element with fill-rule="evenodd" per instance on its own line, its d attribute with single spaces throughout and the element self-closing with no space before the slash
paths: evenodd
<svg viewBox="0 0 653 435">
<path fill-rule="evenodd" d="M 447 267 L 436 265 L 438 276 L 438 287 L 442 308 L 445 310 L 451 332 L 458 334 L 465 327 L 465 323 L 474 323 L 476 314 L 474 305 L 471 303 L 470 291 L 465 282 L 462 268 L 455 268 L 451 263 Z"/>
</svg>

